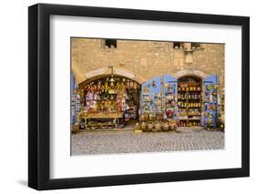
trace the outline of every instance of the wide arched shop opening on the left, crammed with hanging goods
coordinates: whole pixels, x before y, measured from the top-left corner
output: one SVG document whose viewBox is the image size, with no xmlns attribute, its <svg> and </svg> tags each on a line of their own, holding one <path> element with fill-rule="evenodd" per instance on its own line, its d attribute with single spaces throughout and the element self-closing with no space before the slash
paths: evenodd
<svg viewBox="0 0 256 194">
<path fill-rule="evenodd" d="M 138 122 L 138 82 L 115 75 L 90 78 L 79 84 L 80 123 L 85 129 L 133 129 Z"/>
</svg>

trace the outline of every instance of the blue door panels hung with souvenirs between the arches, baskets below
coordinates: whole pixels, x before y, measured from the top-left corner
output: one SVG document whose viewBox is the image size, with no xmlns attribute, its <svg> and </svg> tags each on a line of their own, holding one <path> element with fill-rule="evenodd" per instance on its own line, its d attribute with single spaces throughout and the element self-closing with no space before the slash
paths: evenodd
<svg viewBox="0 0 256 194">
<path fill-rule="evenodd" d="M 140 128 L 143 131 L 169 131 L 176 125 L 176 78 L 164 75 L 142 84 Z"/>
</svg>

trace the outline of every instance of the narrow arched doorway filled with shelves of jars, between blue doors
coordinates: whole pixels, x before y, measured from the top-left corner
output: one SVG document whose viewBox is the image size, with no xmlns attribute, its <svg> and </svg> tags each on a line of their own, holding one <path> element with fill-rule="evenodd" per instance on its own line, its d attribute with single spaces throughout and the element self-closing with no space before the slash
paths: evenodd
<svg viewBox="0 0 256 194">
<path fill-rule="evenodd" d="M 202 79 L 180 77 L 178 79 L 179 127 L 200 127 L 202 103 Z"/>
</svg>

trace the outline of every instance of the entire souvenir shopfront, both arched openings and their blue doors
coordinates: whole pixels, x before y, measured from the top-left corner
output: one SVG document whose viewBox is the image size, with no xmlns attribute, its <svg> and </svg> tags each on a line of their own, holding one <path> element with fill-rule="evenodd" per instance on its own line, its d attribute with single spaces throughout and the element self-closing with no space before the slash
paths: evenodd
<svg viewBox="0 0 256 194">
<path fill-rule="evenodd" d="M 112 74 L 92 77 L 72 87 L 71 123 L 79 129 L 168 131 L 218 127 L 216 75 L 163 75 L 140 85 Z"/>
</svg>

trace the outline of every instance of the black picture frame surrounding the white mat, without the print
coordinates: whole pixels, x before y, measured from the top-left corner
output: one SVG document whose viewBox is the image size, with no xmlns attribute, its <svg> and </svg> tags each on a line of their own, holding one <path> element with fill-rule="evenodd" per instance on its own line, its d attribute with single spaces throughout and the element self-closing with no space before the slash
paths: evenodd
<svg viewBox="0 0 256 194">
<path fill-rule="evenodd" d="M 241 168 L 50 179 L 50 15 L 241 26 Z M 250 17 L 37 4 L 28 7 L 28 186 L 69 189 L 250 176 Z"/>
</svg>

